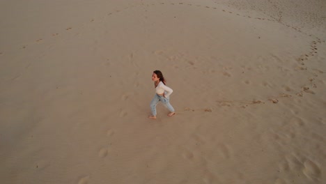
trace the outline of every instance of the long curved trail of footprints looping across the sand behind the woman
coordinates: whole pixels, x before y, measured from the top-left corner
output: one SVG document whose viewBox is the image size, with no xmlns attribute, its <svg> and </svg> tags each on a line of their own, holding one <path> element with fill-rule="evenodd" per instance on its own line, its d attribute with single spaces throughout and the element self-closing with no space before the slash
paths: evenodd
<svg viewBox="0 0 326 184">
<path fill-rule="evenodd" d="M 273 18 L 273 19 L 267 19 L 267 18 L 261 18 L 261 17 L 251 17 L 251 16 L 248 16 L 248 15 L 240 15 L 239 13 L 236 13 L 235 15 L 242 16 L 242 17 L 247 17 L 247 18 L 251 18 L 251 19 L 256 19 L 256 20 L 266 20 L 266 21 L 272 21 L 272 22 L 279 22 L 280 24 L 284 24 L 285 26 L 291 27 L 292 29 L 295 29 L 296 31 L 299 31 L 300 33 L 304 33 L 302 31 L 300 31 L 299 28 L 297 28 L 295 26 L 287 25 L 284 22 L 282 22 L 282 12 L 281 12 L 281 10 L 279 10 L 279 7 L 276 6 L 272 1 L 269 0 L 269 2 L 272 3 L 274 8 L 276 8 L 278 10 L 278 12 L 279 12 L 278 17 L 272 17 L 271 15 L 267 15 L 267 16 L 270 16 L 270 17 Z M 217 2 L 215 2 L 215 3 L 217 3 Z M 128 10 L 130 8 L 134 8 L 134 7 L 137 7 L 137 6 L 147 6 L 147 7 L 149 7 L 149 6 L 156 6 L 156 5 L 164 5 L 164 6 L 167 6 L 167 5 L 172 5 L 172 6 L 196 6 L 196 7 L 202 7 L 202 8 L 217 10 L 216 7 L 194 5 L 192 3 L 182 3 L 182 2 L 179 2 L 179 3 L 164 3 L 164 2 L 162 2 L 162 3 L 151 3 L 151 4 L 140 3 L 139 5 L 133 5 L 133 6 L 128 6 L 128 7 L 122 8 L 121 10 L 114 10 L 113 12 L 107 13 L 107 16 L 114 15 L 115 13 L 121 13 L 123 10 Z M 224 13 L 233 14 L 233 12 L 227 11 L 227 10 L 224 10 L 224 9 L 222 9 L 221 11 L 224 12 Z M 95 19 L 91 19 L 90 22 L 95 22 Z M 72 27 L 66 28 L 65 31 L 72 31 Z M 308 35 L 307 33 L 304 33 L 304 34 Z M 59 33 L 52 33 L 52 36 L 57 37 L 57 36 L 59 36 Z M 310 52 L 302 54 L 300 56 L 300 58 L 297 59 L 298 63 L 300 63 L 300 66 L 298 66 L 296 68 L 297 70 L 308 70 L 308 68 L 306 68 L 304 66 L 304 61 L 307 61 L 309 59 L 309 56 L 314 56 L 315 54 L 318 54 L 318 44 L 322 44 L 322 43 L 325 44 L 325 40 L 321 40 L 320 38 L 318 38 L 316 36 L 312 36 L 312 35 L 309 35 L 309 36 L 311 36 L 313 38 L 316 38 L 316 40 L 313 40 L 310 43 Z M 43 40 L 42 38 L 39 38 L 39 39 L 36 40 L 36 43 L 43 43 L 44 41 L 45 40 Z M 28 46 L 29 45 L 22 45 L 20 48 L 21 49 L 26 49 Z M 4 54 L 5 54 L 4 52 L 0 51 L 0 56 L 2 56 Z M 194 63 L 190 63 L 190 64 L 194 65 Z M 320 70 L 317 70 L 317 72 L 318 73 L 323 73 L 323 71 L 320 71 Z M 231 75 L 228 72 L 224 72 L 224 75 L 226 77 L 231 77 Z M 315 73 L 314 75 L 315 75 L 315 77 L 318 77 L 318 74 Z M 313 81 L 314 81 L 314 79 L 309 79 L 309 84 L 311 84 L 312 86 L 311 87 L 309 87 L 309 86 L 301 86 L 301 91 L 298 92 L 296 95 L 297 96 L 303 96 L 303 92 L 314 94 L 314 92 L 311 90 L 311 88 L 316 88 L 317 86 L 316 86 L 316 84 L 313 83 Z M 247 81 L 245 83 L 249 84 L 249 81 Z M 290 97 L 290 95 L 287 96 L 287 97 Z M 123 98 L 125 98 L 125 97 L 123 97 Z M 277 100 L 277 98 L 274 98 L 274 99 L 268 98 L 267 100 L 269 100 L 270 102 L 273 102 L 273 103 L 279 102 L 279 100 Z M 218 103 L 219 103 L 219 105 L 230 107 L 231 105 L 234 105 L 237 102 L 236 101 L 227 101 L 227 102 L 224 101 L 224 102 L 218 102 Z M 240 102 L 240 103 L 247 103 L 247 105 L 252 105 L 252 104 L 265 103 L 265 102 L 261 102 L 261 101 L 259 101 L 259 102 L 257 102 L 257 101 L 248 102 L 248 101 L 243 100 L 243 102 Z M 241 107 L 245 108 L 245 106 L 241 106 Z M 205 112 L 211 112 L 211 109 L 209 109 L 209 110 L 205 109 Z M 127 112 L 123 112 L 123 110 L 121 110 L 121 112 L 119 114 L 120 114 L 121 117 L 127 116 Z"/>
</svg>

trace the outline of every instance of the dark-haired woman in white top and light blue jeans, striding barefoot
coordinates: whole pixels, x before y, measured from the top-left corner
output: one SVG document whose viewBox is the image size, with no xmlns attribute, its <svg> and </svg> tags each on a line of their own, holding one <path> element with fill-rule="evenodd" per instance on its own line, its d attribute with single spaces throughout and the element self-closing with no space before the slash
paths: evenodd
<svg viewBox="0 0 326 184">
<path fill-rule="evenodd" d="M 166 81 L 160 70 L 155 70 L 153 72 L 152 80 L 154 81 L 156 94 L 152 102 L 150 102 L 150 109 L 152 110 L 152 115 L 148 116 L 148 118 L 156 119 L 156 105 L 159 101 L 161 101 L 163 105 L 167 109 L 169 109 L 170 113 L 168 114 L 168 116 L 173 116 L 174 114 L 176 114 L 176 112 L 174 112 L 174 109 L 169 102 L 170 101 L 169 95 L 171 95 L 173 90 L 168 86 L 165 86 Z"/>
</svg>

